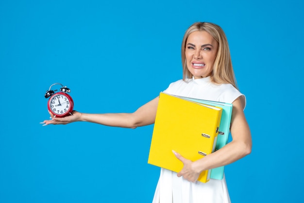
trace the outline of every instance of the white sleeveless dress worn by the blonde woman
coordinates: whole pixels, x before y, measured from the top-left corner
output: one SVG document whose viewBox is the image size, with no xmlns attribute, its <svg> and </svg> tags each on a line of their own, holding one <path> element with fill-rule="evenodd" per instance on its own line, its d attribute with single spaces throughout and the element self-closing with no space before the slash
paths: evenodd
<svg viewBox="0 0 304 203">
<path fill-rule="evenodd" d="M 240 97 L 245 108 L 245 96 L 231 84 L 216 85 L 210 77 L 178 80 L 169 85 L 164 92 L 197 99 L 232 103 Z M 152 203 L 231 203 L 223 180 L 210 179 L 207 183 L 192 183 L 177 173 L 161 168 Z"/>
</svg>

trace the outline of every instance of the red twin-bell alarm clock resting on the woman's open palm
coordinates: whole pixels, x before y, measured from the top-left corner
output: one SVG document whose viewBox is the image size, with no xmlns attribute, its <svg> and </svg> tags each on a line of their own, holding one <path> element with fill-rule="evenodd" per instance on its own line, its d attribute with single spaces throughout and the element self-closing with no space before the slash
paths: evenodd
<svg viewBox="0 0 304 203">
<path fill-rule="evenodd" d="M 53 85 L 61 85 L 60 92 L 56 92 L 51 90 Z M 63 86 L 60 83 L 52 84 L 50 89 L 45 93 L 45 98 L 49 98 L 48 101 L 48 109 L 54 114 L 55 117 L 66 117 L 68 115 L 72 115 L 74 102 L 72 97 L 68 94 L 70 89 L 67 86 Z M 55 93 L 56 92 L 56 93 Z"/>
</svg>

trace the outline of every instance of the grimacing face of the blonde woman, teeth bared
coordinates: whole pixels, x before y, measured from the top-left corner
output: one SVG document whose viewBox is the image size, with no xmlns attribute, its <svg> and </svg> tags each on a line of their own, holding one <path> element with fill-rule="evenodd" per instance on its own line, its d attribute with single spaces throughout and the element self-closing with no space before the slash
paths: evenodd
<svg viewBox="0 0 304 203">
<path fill-rule="evenodd" d="M 218 42 L 206 31 L 195 31 L 188 36 L 186 64 L 195 79 L 211 74 L 217 51 Z"/>
</svg>

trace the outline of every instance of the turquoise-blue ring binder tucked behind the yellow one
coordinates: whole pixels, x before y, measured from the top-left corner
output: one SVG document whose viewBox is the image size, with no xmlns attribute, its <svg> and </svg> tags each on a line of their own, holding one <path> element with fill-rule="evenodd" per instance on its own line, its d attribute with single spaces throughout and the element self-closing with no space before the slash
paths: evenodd
<svg viewBox="0 0 304 203">
<path fill-rule="evenodd" d="M 230 123 L 231 123 L 233 105 L 230 103 L 194 99 L 194 98 L 189 98 L 189 97 L 184 97 L 184 96 L 179 96 L 179 97 L 193 101 L 193 102 L 203 103 L 203 104 L 217 106 L 217 107 L 222 108 L 219 135 L 218 135 L 218 140 L 217 140 L 215 150 L 218 150 L 218 149 L 224 147 L 225 145 L 227 145 L 229 132 L 230 132 Z M 220 167 L 211 169 L 210 178 L 222 180 L 223 175 L 224 175 L 224 166 L 220 166 Z"/>
</svg>

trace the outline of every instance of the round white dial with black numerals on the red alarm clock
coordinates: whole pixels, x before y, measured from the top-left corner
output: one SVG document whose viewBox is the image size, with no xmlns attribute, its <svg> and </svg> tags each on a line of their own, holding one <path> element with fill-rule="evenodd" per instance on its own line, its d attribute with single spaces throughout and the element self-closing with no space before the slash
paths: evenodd
<svg viewBox="0 0 304 203">
<path fill-rule="evenodd" d="M 56 115 L 67 114 L 71 107 L 71 100 L 65 94 L 54 94 L 49 100 L 49 108 Z"/>
</svg>

